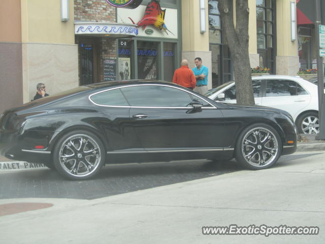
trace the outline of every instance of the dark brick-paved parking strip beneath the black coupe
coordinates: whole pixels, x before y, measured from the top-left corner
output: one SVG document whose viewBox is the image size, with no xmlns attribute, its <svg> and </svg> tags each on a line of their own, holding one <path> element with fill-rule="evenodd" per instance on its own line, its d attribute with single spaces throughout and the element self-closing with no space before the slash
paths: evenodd
<svg viewBox="0 0 325 244">
<path fill-rule="evenodd" d="M 282 156 L 277 166 L 315 153 Z M 55 170 L 16 170 L 0 172 L 0 199 L 71 198 L 96 199 L 106 196 L 166 186 L 178 182 L 206 178 L 243 170 L 235 160 L 208 160 L 168 163 L 108 165 L 90 180 L 72 181 Z"/>
</svg>

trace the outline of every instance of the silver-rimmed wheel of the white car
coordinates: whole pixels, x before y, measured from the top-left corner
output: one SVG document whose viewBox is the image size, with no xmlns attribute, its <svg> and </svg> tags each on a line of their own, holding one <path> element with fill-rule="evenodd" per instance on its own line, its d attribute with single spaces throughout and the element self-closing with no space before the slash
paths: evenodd
<svg viewBox="0 0 325 244">
<path fill-rule="evenodd" d="M 308 112 L 300 115 L 297 118 L 296 126 L 299 134 L 318 134 L 319 119 L 318 113 Z"/>
</svg>

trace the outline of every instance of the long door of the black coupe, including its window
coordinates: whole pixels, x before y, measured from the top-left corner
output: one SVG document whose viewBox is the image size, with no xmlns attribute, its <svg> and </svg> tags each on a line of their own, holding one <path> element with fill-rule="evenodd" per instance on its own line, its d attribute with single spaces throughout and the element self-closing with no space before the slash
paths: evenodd
<svg viewBox="0 0 325 244">
<path fill-rule="evenodd" d="M 131 105 L 130 117 L 145 150 L 224 146 L 222 113 L 204 99 L 169 85 L 134 85 L 121 90 Z M 194 109 L 193 102 L 203 107 Z"/>
</svg>

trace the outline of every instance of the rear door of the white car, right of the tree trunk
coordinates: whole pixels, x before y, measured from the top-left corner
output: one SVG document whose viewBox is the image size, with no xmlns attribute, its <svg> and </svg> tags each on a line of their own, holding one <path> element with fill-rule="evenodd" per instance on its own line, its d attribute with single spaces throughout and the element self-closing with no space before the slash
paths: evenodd
<svg viewBox="0 0 325 244">
<path fill-rule="evenodd" d="M 311 101 L 308 92 L 294 80 L 267 79 L 262 105 L 279 108 L 295 115 Z"/>
</svg>

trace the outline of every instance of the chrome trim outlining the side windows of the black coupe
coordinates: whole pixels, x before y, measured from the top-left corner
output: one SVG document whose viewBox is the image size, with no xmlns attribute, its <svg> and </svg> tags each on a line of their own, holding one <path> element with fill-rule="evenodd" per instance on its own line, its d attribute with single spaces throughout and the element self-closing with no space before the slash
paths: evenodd
<svg viewBox="0 0 325 244">
<path fill-rule="evenodd" d="M 145 85 L 154 85 L 154 86 L 167 86 L 167 87 L 172 87 L 172 88 L 175 88 L 175 89 L 179 89 L 179 90 L 183 90 L 184 92 L 186 93 L 189 93 L 199 99 L 202 99 L 203 101 L 205 101 L 206 103 L 210 104 L 212 107 L 202 107 L 202 109 L 217 109 L 216 106 L 214 106 L 213 104 L 211 104 L 210 102 L 208 102 L 207 100 L 205 100 L 204 98 L 200 98 L 198 97 L 196 94 L 194 93 L 191 93 L 189 92 L 188 90 L 185 90 L 183 89 L 182 87 L 176 87 L 176 86 L 173 86 L 173 85 L 166 85 L 166 84 L 132 84 L 132 85 L 124 85 L 124 86 L 119 86 L 119 87 L 113 87 L 113 88 L 109 88 L 109 89 L 106 89 L 106 90 L 101 90 L 100 92 L 96 92 L 96 93 L 93 93 L 93 94 L 90 94 L 88 96 L 88 99 L 91 103 L 93 103 L 94 105 L 97 105 L 97 106 L 101 106 L 101 107 L 115 107 L 115 108 L 178 108 L 178 109 L 190 109 L 192 107 L 146 107 L 146 106 L 116 106 L 116 105 L 102 105 L 102 104 L 98 104 L 98 103 L 95 103 L 91 100 L 91 96 L 93 95 L 96 95 L 96 94 L 99 94 L 99 93 L 105 93 L 105 92 L 108 92 L 109 90 L 114 90 L 114 89 L 121 89 L 121 88 L 125 88 L 125 87 L 132 87 L 132 86 L 145 86 Z"/>
</svg>

